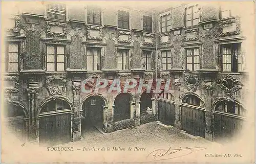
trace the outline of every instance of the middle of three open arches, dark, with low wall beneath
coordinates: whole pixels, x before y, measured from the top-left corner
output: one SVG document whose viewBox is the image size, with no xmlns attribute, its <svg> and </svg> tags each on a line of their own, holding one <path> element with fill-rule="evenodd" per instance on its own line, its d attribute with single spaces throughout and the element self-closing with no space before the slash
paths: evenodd
<svg viewBox="0 0 256 164">
<path fill-rule="evenodd" d="M 129 93 L 120 93 L 114 101 L 114 122 L 131 118 L 132 97 Z"/>
</svg>

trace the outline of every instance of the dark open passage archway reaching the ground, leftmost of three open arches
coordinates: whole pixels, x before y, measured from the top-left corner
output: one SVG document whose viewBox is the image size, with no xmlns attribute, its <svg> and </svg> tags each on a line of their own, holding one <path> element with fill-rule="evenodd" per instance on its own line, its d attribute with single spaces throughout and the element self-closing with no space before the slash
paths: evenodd
<svg viewBox="0 0 256 164">
<path fill-rule="evenodd" d="M 94 127 L 99 131 L 103 128 L 103 106 L 104 100 L 100 96 L 90 96 L 82 104 L 82 136 Z"/>
</svg>

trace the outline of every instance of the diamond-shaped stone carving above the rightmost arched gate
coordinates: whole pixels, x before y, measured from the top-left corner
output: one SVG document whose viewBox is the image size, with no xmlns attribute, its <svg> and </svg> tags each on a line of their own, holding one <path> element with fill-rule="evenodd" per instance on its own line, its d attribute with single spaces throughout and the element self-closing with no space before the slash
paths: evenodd
<svg viewBox="0 0 256 164">
<path fill-rule="evenodd" d="M 238 81 L 237 79 L 235 79 L 229 74 L 225 76 L 225 78 L 217 81 L 217 85 L 226 92 L 226 96 L 224 97 L 228 101 L 234 101 L 233 100 L 234 93 L 236 93 L 238 90 L 242 89 L 243 87 L 243 84 L 240 81 Z"/>
</svg>

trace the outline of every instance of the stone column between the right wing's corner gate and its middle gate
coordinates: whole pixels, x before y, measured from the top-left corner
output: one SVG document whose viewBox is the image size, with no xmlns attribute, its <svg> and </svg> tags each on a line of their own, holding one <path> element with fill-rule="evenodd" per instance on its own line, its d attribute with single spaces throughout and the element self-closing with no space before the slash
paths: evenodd
<svg viewBox="0 0 256 164">
<path fill-rule="evenodd" d="M 174 126 L 181 129 L 181 107 L 180 107 L 180 82 L 174 83 L 174 95 L 175 95 L 175 121 Z"/>
</svg>

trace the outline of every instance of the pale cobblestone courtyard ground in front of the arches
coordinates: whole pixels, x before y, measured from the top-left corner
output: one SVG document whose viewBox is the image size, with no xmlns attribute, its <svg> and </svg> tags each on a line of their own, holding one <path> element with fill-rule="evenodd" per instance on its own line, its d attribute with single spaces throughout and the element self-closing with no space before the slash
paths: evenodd
<svg viewBox="0 0 256 164">
<path fill-rule="evenodd" d="M 208 140 L 181 133 L 181 130 L 172 126 L 162 126 L 157 122 L 143 124 L 137 127 L 130 127 L 123 130 L 114 131 L 108 134 L 102 134 L 90 124 L 82 125 L 83 139 L 77 142 L 71 142 L 67 146 L 74 147 L 113 147 L 118 146 L 145 146 L 145 145 L 172 145 L 189 146 L 209 144 Z M 66 145 L 65 145 L 66 146 Z"/>
</svg>

